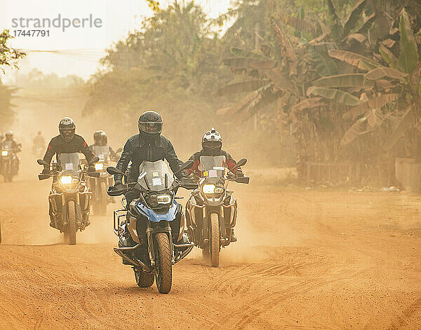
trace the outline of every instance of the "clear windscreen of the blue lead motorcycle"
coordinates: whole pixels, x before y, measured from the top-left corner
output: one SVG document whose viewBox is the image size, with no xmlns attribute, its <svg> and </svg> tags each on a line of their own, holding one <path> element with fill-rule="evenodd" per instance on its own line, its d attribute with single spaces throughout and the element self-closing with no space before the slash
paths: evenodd
<svg viewBox="0 0 421 330">
<path fill-rule="evenodd" d="M 147 191 L 163 191 L 171 187 L 174 176 L 163 160 L 143 161 L 139 166 L 138 184 Z"/>
</svg>

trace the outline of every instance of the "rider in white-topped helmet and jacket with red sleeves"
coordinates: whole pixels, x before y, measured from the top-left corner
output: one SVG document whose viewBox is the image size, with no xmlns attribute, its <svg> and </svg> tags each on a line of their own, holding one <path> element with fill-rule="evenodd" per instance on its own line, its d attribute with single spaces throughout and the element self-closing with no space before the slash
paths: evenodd
<svg viewBox="0 0 421 330">
<path fill-rule="evenodd" d="M 201 172 L 199 171 L 200 156 L 225 156 L 225 163 L 229 170 L 236 166 L 236 161 L 234 160 L 234 158 L 232 158 L 232 156 L 229 153 L 227 153 L 227 151 L 222 150 L 222 137 L 220 133 L 217 130 L 215 130 L 215 128 L 212 128 L 211 130 L 203 134 L 201 146 L 201 151 L 193 153 L 193 155 L 189 158 L 189 160 L 193 160 L 194 163 L 192 167 L 187 169 L 187 173 L 196 173 L 201 175 Z M 244 176 L 243 171 L 241 171 L 240 167 L 237 167 L 232 172 L 236 175 L 236 177 Z M 231 242 L 236 242 L 234 229 L 232 229 Z"/>
</svg>

